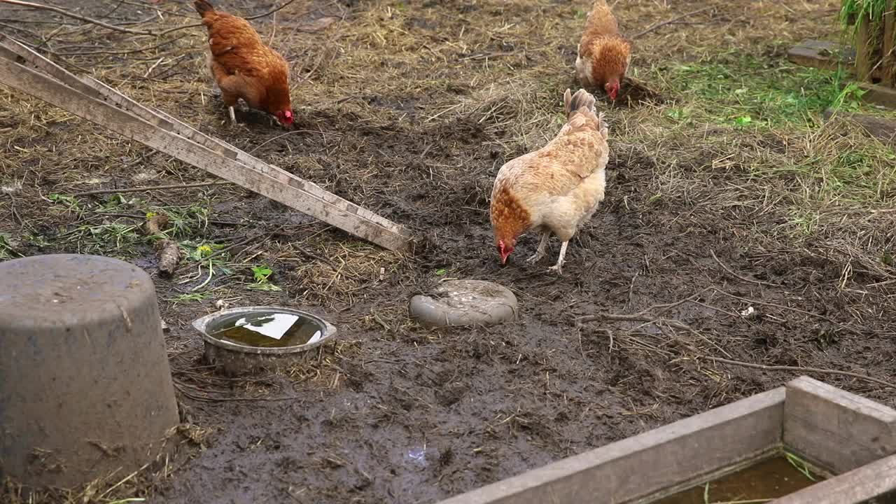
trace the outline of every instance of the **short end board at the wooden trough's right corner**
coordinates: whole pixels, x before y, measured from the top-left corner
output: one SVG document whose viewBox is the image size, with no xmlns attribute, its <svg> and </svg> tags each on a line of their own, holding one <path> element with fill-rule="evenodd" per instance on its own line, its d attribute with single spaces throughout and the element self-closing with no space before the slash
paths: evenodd
<svg viewBox="0 0 896 504">
<path fill-rule="evenodd" d="M 845 473 L 896 453 L 896 411 L 801 377 L 787 384 L 784 446 Z"/>
</svg>

